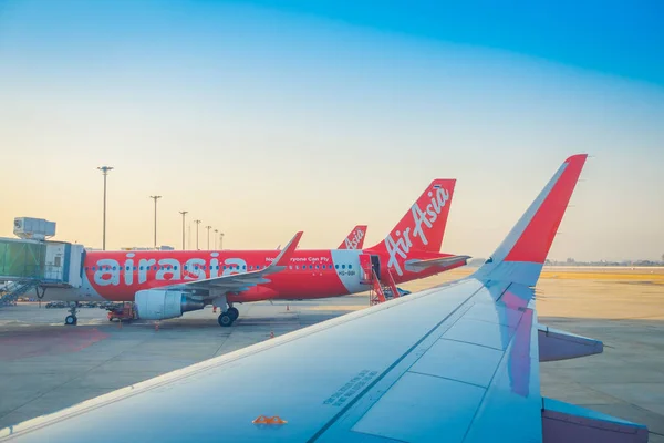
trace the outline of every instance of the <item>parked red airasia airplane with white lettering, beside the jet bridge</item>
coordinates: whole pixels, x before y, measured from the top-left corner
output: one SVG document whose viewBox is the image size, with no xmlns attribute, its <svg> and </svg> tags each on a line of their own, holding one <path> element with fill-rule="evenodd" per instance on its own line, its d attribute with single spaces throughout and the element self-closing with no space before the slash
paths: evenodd
<svg viewBox="0 0 664 443">
<path fill-rule="evenodd" d="M 75 302 L 65 324 L 76 324 L 79 301 L 96 300 L 133 301 L 144 320 L 176 318 L 212 305 L 221 309 L 219 324 L 229 327 L 239 316 L 234 303 L 345 296 L 377 281 L 396 288 L 470 258 L 439 253 L 455 184 L 434 179 L 371 248 L 297 249 L 300 231 L 282 250 L 85 251 L 82 286 L 49 287 L 41 299 Z"/>
</svg>

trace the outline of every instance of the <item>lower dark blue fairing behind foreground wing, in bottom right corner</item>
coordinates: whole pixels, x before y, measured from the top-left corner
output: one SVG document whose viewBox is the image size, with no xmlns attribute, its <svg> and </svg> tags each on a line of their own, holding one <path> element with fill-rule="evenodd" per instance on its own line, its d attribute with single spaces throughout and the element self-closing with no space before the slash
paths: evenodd
<svg viewBox="0 0 664 443">
<path fill-rule="evenodd" d="M 543 443 L 641 443 L 647 442 L 647 426 L 542 398 L 542 436 Z"/>
</svg>

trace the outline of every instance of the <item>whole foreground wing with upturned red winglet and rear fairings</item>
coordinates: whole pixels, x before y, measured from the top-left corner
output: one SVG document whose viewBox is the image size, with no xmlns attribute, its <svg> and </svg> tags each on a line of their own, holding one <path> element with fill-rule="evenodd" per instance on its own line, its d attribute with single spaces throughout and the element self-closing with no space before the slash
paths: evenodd
<svg viewBox="0 0 664 443">
<path fill-rule="evenodd" d="M 103 432 L 112 418 L 133 441 L 646 442 L 644 425 L 540 392 L 540 361 L 603 350 L 540 324 L 535 309 L 585 159 L 562 164 L 469 277 L 25 421 L 0 440 L 114 442 Z"/>
</svg>

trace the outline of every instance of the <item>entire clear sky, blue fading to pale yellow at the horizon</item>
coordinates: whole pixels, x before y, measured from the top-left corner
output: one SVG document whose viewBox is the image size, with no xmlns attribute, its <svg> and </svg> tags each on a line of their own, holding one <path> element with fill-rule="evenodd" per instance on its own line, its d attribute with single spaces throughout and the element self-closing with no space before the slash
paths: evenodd
<svg viewBox="0 0 664 443">
<path fill-rule="evenodd" d="M 154 194 L 160 244 L 183 209 L 226 247 L 369 244 L 456 177 L 444 250 L 483 256 L 589 152 L 551 257 L 664 254 L 663 7 L 450 4 L 0 2 L 0 235 L 100 246 L 102 164 L 114 248 L 152 245 Z"/>
</svg>

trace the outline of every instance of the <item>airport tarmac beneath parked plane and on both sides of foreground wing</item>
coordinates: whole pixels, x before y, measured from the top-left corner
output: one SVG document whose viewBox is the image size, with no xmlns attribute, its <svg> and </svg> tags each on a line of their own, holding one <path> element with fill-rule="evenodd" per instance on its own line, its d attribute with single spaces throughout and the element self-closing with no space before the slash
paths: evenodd
<svg viewBox="0 0 664 443">
<path fill-rule="evenodd" d="M 417 290 L 464 274 L 403 287 Z M 604 352 L 542 363 L 542 395 L 646 424 L 650 442 L 664 443 L 664 285 L 560 275 L 538 285 L 540 322 L 602 340 Z M 81 309 L 79 324 L 65 327 L 66 310 L 44 305 L 0 309 L 0 429 L 363 309 L 369 300 L 360 295 L 241 305 L 231 328 L 219 327 L 208 307 L 158 329 L 152 321 L 108 322 L 98 308 Z"/>
</svg>

